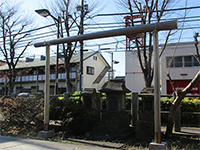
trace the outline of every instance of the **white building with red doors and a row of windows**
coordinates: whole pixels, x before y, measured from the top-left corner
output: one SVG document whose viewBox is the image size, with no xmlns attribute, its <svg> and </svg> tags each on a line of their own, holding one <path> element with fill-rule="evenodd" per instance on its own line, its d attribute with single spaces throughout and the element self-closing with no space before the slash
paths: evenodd
<svg viewBox="0 0 200 150">
<path fill-rule="evenodd" d="M 200 48 L 200 46 L 198 46 Z M 171 94 L 172 88 L 166 76 L 170 71 L 170 76 L 176 88 L 184 88 L 200 70 L 200 65 L 195 58 L 196 49 L 194 42 L 179 43 L 171 66 L 169 62 L 173 56 L 176 44 L 168 44 L 161 56 L 161 93 Z M 160 50 L 162 45 L 160 46 Z M 140 69 L 137 52 L 126 51 L 125 54 L 125 81 L 126 86 L 133 92 L 140 92 L 145 84 L 143 73 Z M 154 82 L 152 82 L 153 85 Z M 190 94 L 200 94 L 200 82 L 192 89 Z"/>
</svg>

